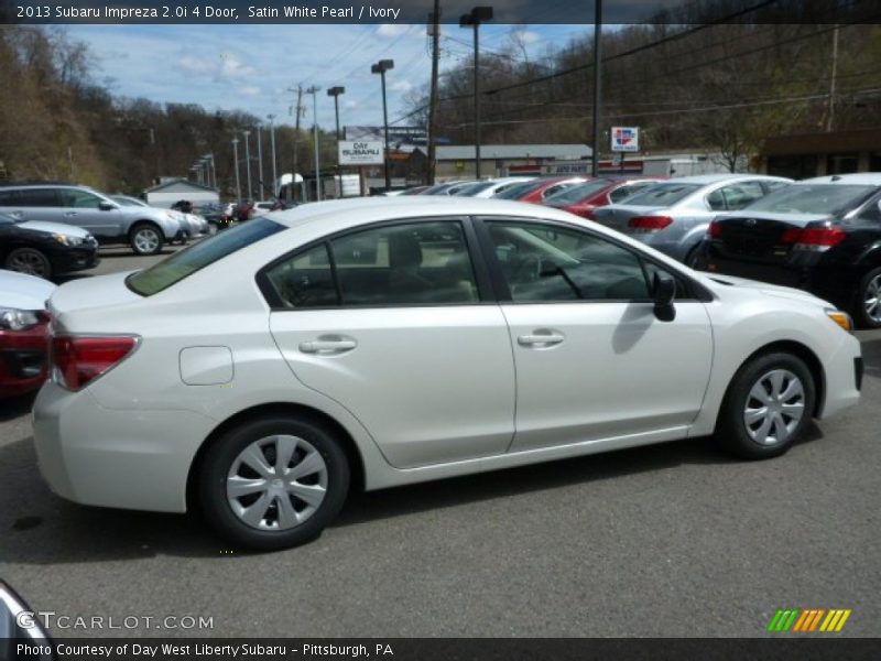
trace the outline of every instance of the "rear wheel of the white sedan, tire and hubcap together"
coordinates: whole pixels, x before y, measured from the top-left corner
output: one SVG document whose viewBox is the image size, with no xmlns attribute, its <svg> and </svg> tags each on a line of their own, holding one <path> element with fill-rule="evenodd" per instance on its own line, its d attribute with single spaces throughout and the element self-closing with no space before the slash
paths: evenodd
<svg viewBox="0 0 881 661">
<path fill-rule="evenodd" d="M 205 455 L 199 501 L 224 538 L 255 550 L 317 538 L 349 488 L 335 434 L 309 420 L 272 416 L 224 434 Z"/>
</svg>

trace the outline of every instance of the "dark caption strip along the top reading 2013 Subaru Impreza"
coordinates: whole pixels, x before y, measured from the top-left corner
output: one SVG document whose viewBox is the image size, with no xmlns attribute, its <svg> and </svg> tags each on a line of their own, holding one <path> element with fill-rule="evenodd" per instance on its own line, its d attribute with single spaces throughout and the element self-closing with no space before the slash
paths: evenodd
<svg viewBox="0 0 881 661">
<path fill-rule="evenodd" d="M 878 0 L 482 0 L 482 22 L 592 24 L 878 23 Z M 440 0 L 458 24 L 476 0 Z M 434 0 L 0 0 L 0 22 L 30 24 L 404 23 L 428 21 Z"/>
</svg>

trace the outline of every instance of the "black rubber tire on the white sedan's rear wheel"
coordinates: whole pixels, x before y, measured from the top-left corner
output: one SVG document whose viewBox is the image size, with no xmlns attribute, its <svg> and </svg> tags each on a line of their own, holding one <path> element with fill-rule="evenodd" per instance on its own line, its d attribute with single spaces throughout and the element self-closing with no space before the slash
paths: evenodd
<svg viewBox="0 0 881 661">
<path fill-rule="evenodd" d="M 305 441 L 311 446 L 309 452 L 317 451 L 326 468 L 326 491 L 320 505 L 302 523 L 286 530 L 261 529 L 247 523 L 239 514 L 233 512 L 233 506 L 227 495 L 228 477 L 233 466 L 238 463 L 240 453 L 259 441 L 267 441 L 267 446 L 273 447 L 271 438 L 278 436 L 295 437 L 300 443 L 297 445 L 300 449 L 303 447 L 302 442 Z M 270 460 L 272 456 L 270 454 L 270 458 L 268 458 L 263 454 L 263 458 L 267 459 L 268 464 L 272 463 Z M 278 457 L 278 455 L 274 456 Z M 297 460 L 297 455 L 294 455 L 292 460 Z M 302 457 L 300 460 L 302 460 Z M 243 464 L 239 465 L 243 466 Z M 293 464 L 292 469 L 295 469 L 296 466 L 296 463 Z M 274 470 L 275 466 L 271 466 L 271 468 Z M 237 473 L 237 475 L 240 474 Z M 199 505 L 208 523 L 222 538 L 237 546 L 258 551 L 290 549 L 316 539 L 327 524 L 336 518 L 346 500 L 349 489 L 349 476 L 346 453 L 333 432 L 308 419 L 271 415 L 247 422 L 227 432 L 208 448 L 198 474 Z M 273 512 L 275 513 L 276 520 L 274 523 L 276 525 L 281 520 L 278 518 L 280 517 L 279 508 L 281 502 L 271 499 L 279 497 L 278 494 L 270 496 L 269 508 L 264 511 L 264 513 L 269 512 L 270 517 Z M 290 500 L 292 497 L 287 496 L 287 498 L 289 503 L 292 502 Z M 296 499 L 294 498 L 293 500 Z M 248 505 L 247 500 L 237 502 L 239 505 Z M 267 506 L 263 507 L 265 508 Z M 261 525 L 265 521 L 262 521 Z"/>
</svg>

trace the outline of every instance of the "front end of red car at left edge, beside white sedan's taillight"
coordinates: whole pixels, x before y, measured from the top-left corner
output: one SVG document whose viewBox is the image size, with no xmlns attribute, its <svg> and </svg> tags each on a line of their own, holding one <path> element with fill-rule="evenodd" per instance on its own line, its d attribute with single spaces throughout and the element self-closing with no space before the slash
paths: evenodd
<svg viewBox="0 0 881 661">
<path fill-rule="evenodd" d="M 54 289 L 33 275 L 0 271 L 0 398 L 36 390 L 46 380 L 45 301 Z"/>
</svg>

